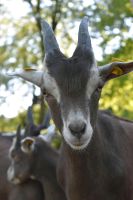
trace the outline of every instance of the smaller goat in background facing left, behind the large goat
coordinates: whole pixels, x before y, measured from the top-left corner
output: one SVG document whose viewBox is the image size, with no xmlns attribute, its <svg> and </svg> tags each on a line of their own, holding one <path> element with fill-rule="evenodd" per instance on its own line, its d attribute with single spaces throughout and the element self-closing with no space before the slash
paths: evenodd
<svg viewBox="0 0 133 200">
<path fill-rule="evenodd" d="M 21 141 L 18 133 L 10 151 L 10 158 L 10 181 L 23 183 L 27 179 L 35 179 L 42 184 L 46 200 L 66 199 L 56 178 L 58 153 L 42 137 L 26 137 Z"/>
</svg>

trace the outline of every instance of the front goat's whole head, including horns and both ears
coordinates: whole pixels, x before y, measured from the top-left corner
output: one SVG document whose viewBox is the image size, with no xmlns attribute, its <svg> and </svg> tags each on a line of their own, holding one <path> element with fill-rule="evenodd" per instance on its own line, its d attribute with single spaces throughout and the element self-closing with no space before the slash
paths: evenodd
<svg viewBox="0 0 133 200">
<path fill-rule="evenodd" d="M 132 71 L 133 62 L 116 62 L 98 68 L 88 33 L 87 17 L 81 21 L 78 45 L 71 58 L 61 53 L 54 33 L 45 21 L 42 22 L 42 31 L 44 70 L 13 75 L 38 85 L 42 92 L 47 93 L 49 105 L 52 96 L 58 106 L 60 129 L 65 141 L 71 148 L 82 150 L 89 144 L 95 129 L 102 87 L 109 79 Z"/>
</svg>

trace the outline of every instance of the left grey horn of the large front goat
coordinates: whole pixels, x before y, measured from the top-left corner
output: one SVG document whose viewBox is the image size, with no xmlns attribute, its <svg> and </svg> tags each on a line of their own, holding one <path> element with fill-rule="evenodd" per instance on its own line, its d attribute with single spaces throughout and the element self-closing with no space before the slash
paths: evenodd
<svg viewBox="0 0 133 200">
<path fill-rule="evenodd" d="M 43 42 L 44 42 L 45 52 L 48 53 L 53 51 L 54 49 L 58 49 L 60 51 L 59 45 L 54 36 L 54 32 L 52 28 L 49 26 L 49 24 L 46 21 L 42 20 L 41 26 L 43 32 Z"/>
</svg>

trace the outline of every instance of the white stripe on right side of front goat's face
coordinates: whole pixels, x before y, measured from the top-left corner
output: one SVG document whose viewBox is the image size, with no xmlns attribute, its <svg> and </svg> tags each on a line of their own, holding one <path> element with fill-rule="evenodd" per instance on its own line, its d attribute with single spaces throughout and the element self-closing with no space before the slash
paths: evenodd
<svg viewBox="0 0 133 200">
<path fill-rule="evenodd" d="M 96 67 L 93 67 L 90 71 L 90 79 L 88 80 L 87 84 L 87 97 L 90 99 L 92 93 L 96 89 L 96 86 L 98 85 L 100 80 L 99 72 Z"/>
</svg>

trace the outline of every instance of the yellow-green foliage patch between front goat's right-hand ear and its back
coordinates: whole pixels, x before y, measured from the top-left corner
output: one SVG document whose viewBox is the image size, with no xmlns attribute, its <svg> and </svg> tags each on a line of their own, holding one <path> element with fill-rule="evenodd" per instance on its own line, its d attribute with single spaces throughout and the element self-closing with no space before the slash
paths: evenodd
<svg viewBox="0 0 133 200">
<path fill-rule="evenodd" d="M 100 108 L 133 120 L 133 74 L 111 80 L 104 87 Z"/>
</svg>

